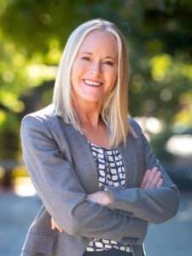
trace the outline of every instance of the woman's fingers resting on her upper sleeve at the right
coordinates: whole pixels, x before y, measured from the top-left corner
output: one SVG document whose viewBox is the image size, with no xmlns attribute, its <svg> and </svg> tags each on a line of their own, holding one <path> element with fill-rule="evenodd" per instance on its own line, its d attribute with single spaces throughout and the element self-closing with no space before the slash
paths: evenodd
<svg viewBox="0 0 192 256">
<path fill-rule="evenodd" d="M 163 179 L 161 178 L 161 172 L 157 167 L 152 170 L 147 170 L 143 176 L 143 180 L 140 189 L 153 189 L 159 188 L 163 185 Z"/>
</svg>

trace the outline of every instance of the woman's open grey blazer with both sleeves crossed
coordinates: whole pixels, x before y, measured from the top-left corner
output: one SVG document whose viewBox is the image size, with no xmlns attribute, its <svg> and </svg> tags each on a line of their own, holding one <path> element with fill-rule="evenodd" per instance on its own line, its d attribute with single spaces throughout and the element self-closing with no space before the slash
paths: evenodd
<svg viewBox="0 0 192 256">
<path fill-rule="evenodd" d="M 22 256 L 81 256 L 91 237 L 130 244 L 134 256 L 144 255 L 148 223 L 172 218 L 179 195 L 137 122 L 129 121 L 137 138 L 129 134 L 126 147 L 119 145 L 125 188 L 108 186 L 113 204 L 103 207 L 86 201 L 87 194 L 98 191 L 96 163 L 86 138 L 56 116 L 53 105 L 23 119 L 24 159 L 43 206 L 28 231 Z M 138 189 L 143 173 L 153 166 L 162 172 L 164 185 Z M 50 216 L 63 233 L 51 230 Z"/>
</svg>

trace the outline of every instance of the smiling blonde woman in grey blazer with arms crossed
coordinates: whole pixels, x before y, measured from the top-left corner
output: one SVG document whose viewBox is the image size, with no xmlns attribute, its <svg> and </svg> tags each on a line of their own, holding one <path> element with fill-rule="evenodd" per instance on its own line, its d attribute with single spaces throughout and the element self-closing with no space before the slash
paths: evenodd
<svg viewBox="0 0 192 256">
<path fill-rule="evenodd" d="M 53 104 L 21 125 L 26 167 L 43 201 L 22 256 L 144 255 L 148 224 L 176 214 L 176 185 L 127 119 L 127 84 L 116 26 L 79 26 L 62 55 Z"/>
</svg>

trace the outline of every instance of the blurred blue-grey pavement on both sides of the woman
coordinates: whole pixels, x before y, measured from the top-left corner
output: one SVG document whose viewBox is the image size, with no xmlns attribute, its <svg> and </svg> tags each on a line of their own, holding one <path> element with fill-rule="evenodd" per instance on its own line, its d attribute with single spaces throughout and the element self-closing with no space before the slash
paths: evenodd
<svg viewBox="0 0 192 256">
<path fill-rule="evenodd" d="M 0 195 L 0 256 L 20 256 L 26 231 L 40 205 L 37 196 Z M 149 226 L 145 247 L 147 256 L 192 255 L 192 193 L 182 194 L 175 218 Z"/>
</svg>

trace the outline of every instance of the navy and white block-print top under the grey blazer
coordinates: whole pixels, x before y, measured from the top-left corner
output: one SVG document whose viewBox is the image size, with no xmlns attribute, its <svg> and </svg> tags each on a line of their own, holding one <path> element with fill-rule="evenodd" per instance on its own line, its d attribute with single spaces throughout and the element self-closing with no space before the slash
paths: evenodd
<svg viewBox="0 0 192 256">
<path fill-rule="evenodd" d="M 102 148 L 90 143 L 92 154 L 96 160 L 99 186 L 109 185 L 114 187 L 125 186 L 125 168 L 118 148 Z M 131 252 L 131 247 L 124 244 L 100 238 L 92 238 L 86 251 L 95 252 L 112 248 Z"/>
</svg>

